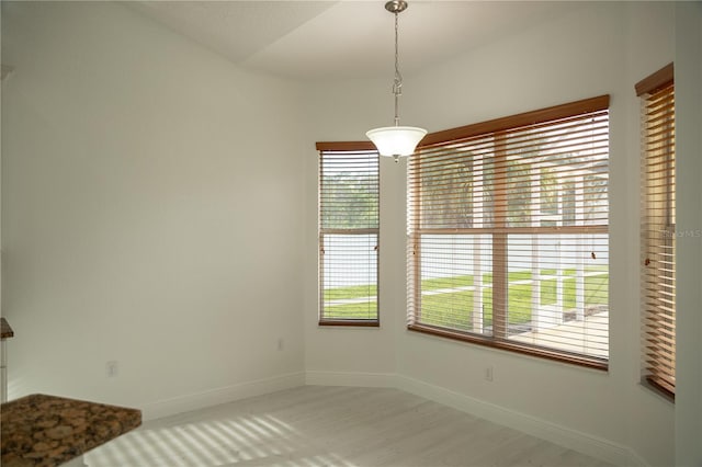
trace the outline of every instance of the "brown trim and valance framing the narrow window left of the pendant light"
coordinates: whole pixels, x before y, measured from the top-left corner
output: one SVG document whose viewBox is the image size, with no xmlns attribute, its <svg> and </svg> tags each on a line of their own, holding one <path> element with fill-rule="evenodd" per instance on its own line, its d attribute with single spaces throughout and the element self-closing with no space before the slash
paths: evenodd
<svg viewBox="0 0 702 467">
<path fill-rule="evenodd" d="M 318 151 L 318 162 L 317 169 L 320 170 L 320 163 L 322 153 L 325 151 L 335 151 L 335 152 L 365 152 L 365 151 L 376 151 L 375 146 L 371 141 L 317 141 L 316 149 Z M 342 319 L 342 318 L 324 318 L 324 289 L 321 284 L 321 264 L 322 264 L 322 239 L 325 234 L 330 234 L 329 231 L 324 231 L 321 227 L 321 186 L 319 184 L 320 181 L 320 172 L 317 174 L 318 186 L 317 186 L 317 197 L 318 197 L 318 209 L 317 209 L 317 276 L 318 276 L 318 310 L 317 310 L 317 324 L 319 327 L 356 327 L 356 328 L 380 328 L 381 326 L 381 284 L 380 284 L 380 272 L 381 272 L 381 261 L 380 261 L 380 242 L 381 242 L 381 226 L 380 226 L 380 186 L 381 186 L 381 171 L 380 171 L 380 156 L 378 156 L 378 173 L 377 173 L 377 184 L 378 184 L 378 226 L 377 228 L 372 229 L 351 229 L 351 230 L 372 230 L 377 240 L 377 246 L 375 248 L 376 251 L 376 314 L 375 319 Z M 346 229 L 326 229 L 326 230 L 336 230 L 337 232 Z"/>
</svg>

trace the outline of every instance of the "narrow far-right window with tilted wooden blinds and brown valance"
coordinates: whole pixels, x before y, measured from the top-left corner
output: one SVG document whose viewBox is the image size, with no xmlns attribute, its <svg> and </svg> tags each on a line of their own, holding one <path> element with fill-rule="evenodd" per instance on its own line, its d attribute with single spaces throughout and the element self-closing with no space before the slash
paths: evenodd
<svg viewBox="0 0 702 467">
<path fill-rule="evenodd" d="M 676 144 L 672 64 L 636 84 L 642 106 L 643 379 L 676 391 Z"/>
</svg>

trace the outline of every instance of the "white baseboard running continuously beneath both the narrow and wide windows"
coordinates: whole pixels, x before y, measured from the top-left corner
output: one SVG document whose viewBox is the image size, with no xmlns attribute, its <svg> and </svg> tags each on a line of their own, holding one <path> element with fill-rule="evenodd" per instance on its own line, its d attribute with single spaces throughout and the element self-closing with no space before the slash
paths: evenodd
<svg viewBox="0 0 702 467">
<path fill-rule="evenodd" d="M 618 466 L 648 467 L 636 453 L 626 446 L 404 375 L 313 371 L 305 373 L 305 384 L 394 387 Z"/>
</svg>

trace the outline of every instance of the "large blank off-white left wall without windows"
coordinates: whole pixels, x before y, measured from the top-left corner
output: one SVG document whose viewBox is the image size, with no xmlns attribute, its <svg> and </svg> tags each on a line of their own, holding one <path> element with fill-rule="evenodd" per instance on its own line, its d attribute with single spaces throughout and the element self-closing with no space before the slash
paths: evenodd
<svg viewBox="0 0 702 467">
<path fill-rule="evenodd" d="M 297 88 L 106 2 L 2 2 L 2 60 L 10 397 L 302 384 Z"/>
</svg>

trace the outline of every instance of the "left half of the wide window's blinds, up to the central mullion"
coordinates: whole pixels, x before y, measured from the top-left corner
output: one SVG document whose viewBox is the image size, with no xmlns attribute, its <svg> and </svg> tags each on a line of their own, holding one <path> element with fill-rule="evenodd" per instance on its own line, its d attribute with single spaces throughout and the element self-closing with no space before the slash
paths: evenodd
<svg viewBox="0 0 702 467">
<path fill-rule="evenodd" d="M 410 324 L 482 332 L 475 282 L 488 269 L 489 236 L 480 235 L 485 205 L 484 163 L 492 137 L 421 149 L 409 159 L 408 307 Z M 483 261 L 480 261 L 483 260 Z M 475 311 L 474 311 L 475 310 Z"/>
</svg>

